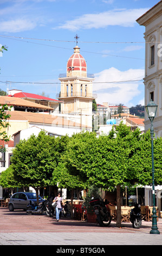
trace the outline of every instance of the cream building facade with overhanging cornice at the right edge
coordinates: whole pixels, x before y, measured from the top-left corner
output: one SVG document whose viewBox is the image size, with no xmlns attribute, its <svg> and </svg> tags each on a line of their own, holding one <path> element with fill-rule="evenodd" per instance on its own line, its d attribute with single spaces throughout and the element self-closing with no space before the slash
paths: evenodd
<svg viewBox="0 0 162 256">
<path fill-rule="evenodd" d="M 145 106 L 152 99 L 157 105 L 154 118 L 155 137 L 162 136 L 162 1 L 137 19 L 145 26 Z M 145 113 L 145 130 L 150 129 L 150 120 Z"/>
</svg>

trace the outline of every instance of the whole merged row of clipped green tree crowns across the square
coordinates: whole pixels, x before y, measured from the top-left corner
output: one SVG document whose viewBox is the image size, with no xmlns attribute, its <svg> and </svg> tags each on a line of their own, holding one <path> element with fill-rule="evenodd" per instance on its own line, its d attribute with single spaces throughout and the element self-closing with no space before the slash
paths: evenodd
<svg viewBox="0 0 162 256">
<path fill-rule="evenodd" d="M 154 139 L 155 184 L 162 184 L 162 138 Z M 42 131 L 20 141 L 13 150 L 11 169 L 22 186 L 37 190 L 56 185 L 69 190 L 90 185 L 113 191 L 115 186 L 150 185 L 150 131 L 141 134 L 124 124 L 108 136 L 82 131 L 72 137 L 50 137 Z"/>
</svg>

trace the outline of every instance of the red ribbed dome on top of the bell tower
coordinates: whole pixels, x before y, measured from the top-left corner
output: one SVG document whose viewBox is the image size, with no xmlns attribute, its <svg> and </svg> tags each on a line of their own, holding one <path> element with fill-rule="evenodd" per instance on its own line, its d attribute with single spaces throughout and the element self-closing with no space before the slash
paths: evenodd
<svg viewBox="0 0 162 256">
<path fill-rule="evenodd" d="M 74 54 L 68 59 L 67 62 L 67 71 L 87 71 L 86 60 L 81 56 L 79 47 L 74 48 Z"/>
</svg>

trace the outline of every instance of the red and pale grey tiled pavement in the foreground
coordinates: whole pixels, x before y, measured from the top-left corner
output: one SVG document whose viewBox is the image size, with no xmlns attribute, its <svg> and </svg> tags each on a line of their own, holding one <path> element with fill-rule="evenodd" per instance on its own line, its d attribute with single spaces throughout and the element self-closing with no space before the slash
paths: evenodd
<svg viewBox="0 0 162 256">
<path fill-rule="evenodd" d="M 25 212 L 9 212 L 0 209 L 0 245 L 55 245 L 66 246 L 106 245 L 162 245 L 162 218 L 158 221 L 159 235 L 150 234 L 152 222 L 142 221 L 140 229 L 131 223 L 122 223 L 121 228 L 112 222 L 102 228 L 95 223 L 47 216 L 28 216 Z M 78 253 L 78 251 L 77 251 Z"/>
</svg>

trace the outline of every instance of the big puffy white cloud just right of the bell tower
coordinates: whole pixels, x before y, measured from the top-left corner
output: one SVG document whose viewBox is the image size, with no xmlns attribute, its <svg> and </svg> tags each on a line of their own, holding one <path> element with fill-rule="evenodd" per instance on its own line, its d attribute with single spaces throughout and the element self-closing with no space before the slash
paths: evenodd
<svg viewBox="0 0 162 256">
<path fill-rule="evenodd" d="M 144 72 L 144 69 L 120 71 L 110 68 L 95 74 L 93 92 L 98 95 L 96 102 L 123 103 L 130 107 L 133 98 L 140 96 L 139 83 L 142 83 L 132 80 L 142 80 Z"/>
</svg>

